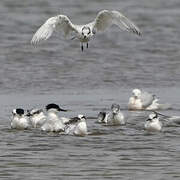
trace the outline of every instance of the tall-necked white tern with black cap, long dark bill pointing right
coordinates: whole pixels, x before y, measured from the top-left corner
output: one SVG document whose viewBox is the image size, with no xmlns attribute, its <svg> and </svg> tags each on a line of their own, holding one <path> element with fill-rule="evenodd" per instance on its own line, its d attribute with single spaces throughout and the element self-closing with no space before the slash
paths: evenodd
<svg viewBox="0 0 180 180">
<path fill-rule="evenodd" d="M 64 131 L 65 125 L 58 117 L 59 111 L 67 111 L 61 109 L 57 104 L 48 104 L 46 106 L 47 110 L 47 119 L 45 123 L 41 126 L 42 131 L 47 132 L 62 132 Z"/>
</svg>

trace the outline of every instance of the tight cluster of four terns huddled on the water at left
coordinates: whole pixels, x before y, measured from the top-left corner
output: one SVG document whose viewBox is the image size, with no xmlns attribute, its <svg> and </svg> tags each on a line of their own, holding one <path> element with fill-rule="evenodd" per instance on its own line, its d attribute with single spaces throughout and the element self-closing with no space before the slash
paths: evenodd
<svg viewBox="0 0 180 180">
<path fill-rule="evenodd" d="M 32 109 L 25 112 L 22 108 L 12 111 L 12 129 L 31 129 L 39 128 L 45 132 L 64 133 L 71 135 L 84 136 L 87 134 L 86 117 L 79 114 L 73 118 L 60 118 L 58 112 L 67 111 L 57 104 L 48 104 L 46 114 L 42 109 Z"/>
</svg>

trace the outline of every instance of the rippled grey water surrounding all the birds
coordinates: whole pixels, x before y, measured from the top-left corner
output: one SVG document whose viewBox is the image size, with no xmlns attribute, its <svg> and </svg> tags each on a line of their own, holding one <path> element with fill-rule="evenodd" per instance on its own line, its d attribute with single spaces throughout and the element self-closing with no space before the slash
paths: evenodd
<svg viewBox="0 0 180 180">
<path fill-rule="evenodd" d="M 99 10 L 117 9 L 142 30 L 141 38 L 112 27 L 83 53 L 77 41 L 54 35 L 33 48 L 40 24 L 56 14 L 72 22 L 93 20 Z M 164 123 L 147 134 L 147 112 L 128 112 L 133 88 L 171 103 L 164 114 L 180 115 L 179 0 L 1 0 L 0 1 L 0 178 L 1 179 L 180 179 L 180 126 Z M 95 117 L 113 102 L 128 124 L 101 126 L 87 120 L 86 137 L 16 131 L 9 126 L 16 107 L 55 102 Z"/>
</svg>

